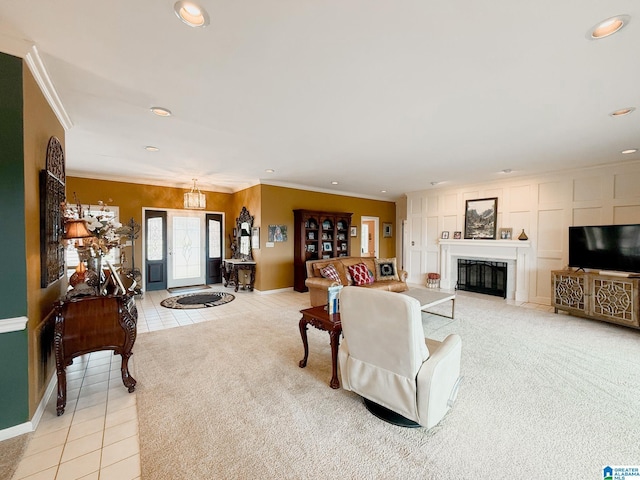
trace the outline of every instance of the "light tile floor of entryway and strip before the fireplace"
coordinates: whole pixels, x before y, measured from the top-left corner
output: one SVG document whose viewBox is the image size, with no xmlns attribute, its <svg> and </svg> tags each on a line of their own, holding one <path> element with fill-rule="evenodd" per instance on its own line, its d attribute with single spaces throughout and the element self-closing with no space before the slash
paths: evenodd
<svg viewBox="0 0 640 480">
<path fill-rule="evenodd" d="M 224 287 L 220 289 L 225 290 Z M 468 295 L 467 292 L 458 294 Z M 293 291 L 261 294 L 240 290 L 235 293 L 236 300 L 221 307 L 172 310 L 160 305 L 170 295 L 162 290 L 136 299 L 138 335 L 265 307 L 308 307 L 308 294 Z M 482 298 L 486 299 L 487 296 L 483 295 Z M 502 299 L 497 298 L 496 301 Z M 547 305 L 517 305 L 553 311 Z M 133 374 L 135 347 L 131 369 Z M 31 436 L 13 480 L 139 478 L 136 395 L 135 392 L 128 393 L 122 385 L 120 356 L 114 356 L 111 351 L 102 351 L 78 357 L 67 368 L 65 413 L 60 417 L 56 416 L 54 392 L 37 430 Z"/>
</svg>

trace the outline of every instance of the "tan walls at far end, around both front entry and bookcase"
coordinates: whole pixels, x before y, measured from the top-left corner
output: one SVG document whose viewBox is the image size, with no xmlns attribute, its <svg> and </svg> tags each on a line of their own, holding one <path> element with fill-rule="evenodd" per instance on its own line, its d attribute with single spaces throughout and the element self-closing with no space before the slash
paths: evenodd
<svg viewBox="0 0 640 480">
<path fill-rule="evenodd" d="M 69 177 L 67 179 L 67 197 L 72 199 L 76 192 L 83 204 L 96 204 L 99 200 L 120 207 L 120 221 L 126 222 L 133 217 L 137 222 L 142 218 L 142 207 L 182 208 L 185 189 L 155 187 L 123 182 L 92 180 Z M 260 291 L 276 290 L 293 286 L 293 210 L 297 208 L 352 212 L 352 221 L 359 227 L 361 216 L 380 218 L 383 222 L 395 225 L 395 203 L 379 200 L 367 200 L 344 195 L 309 192 L 306 190 L 256 185 L 234 194 L 204 192 L 207 195 L 207 210 L 225 213 L 227 238 L 226 257 L 231 254 L 228 248 L 229 235 L 233 232 L 235 221 L 242 207 L 246 207 L 254 217 L 254 226 L 260 227 L 260 249 L 253 250 L 257 262 L 255 288 Z M 286 225 L 288 241 L 276 243 L 266 248 L 267 228 L 269 225 Z M 395 227 L 394 227 L 394 232 Z M 395 256 L 395 239 L 380 237 L 380 256 Z M 358 228 L 360 235 L 360 228 Z M 360 237 L 350 238 L 352 251 L 358 252 Z M 142 243 L 136 243 L 136 265 L 141 267 Z M 353 250 L 355 248 L 355 250 Z"/>
</svg>

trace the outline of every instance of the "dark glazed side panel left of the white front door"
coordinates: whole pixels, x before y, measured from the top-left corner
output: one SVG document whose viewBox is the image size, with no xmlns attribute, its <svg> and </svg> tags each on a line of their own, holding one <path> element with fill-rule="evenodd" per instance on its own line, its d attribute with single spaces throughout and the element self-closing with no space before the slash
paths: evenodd
<svg viewBox="0 0 640 480">
<path fill-rule="evenodd" d="M 167 288 L 167 212 L 147 210 L 145 215 L 146 291 Z"/>
</svg>

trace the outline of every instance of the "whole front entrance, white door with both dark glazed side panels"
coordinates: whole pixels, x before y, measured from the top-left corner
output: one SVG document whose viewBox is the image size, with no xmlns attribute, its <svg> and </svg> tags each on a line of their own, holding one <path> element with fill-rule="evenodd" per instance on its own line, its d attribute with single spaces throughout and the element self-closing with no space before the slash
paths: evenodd
<svg viewBox="0 0 640 480">
<path fill-rule="evenodd" d="M 223 214 L 146 210 L 146 290 L 222 281 Z"/>
</svg>

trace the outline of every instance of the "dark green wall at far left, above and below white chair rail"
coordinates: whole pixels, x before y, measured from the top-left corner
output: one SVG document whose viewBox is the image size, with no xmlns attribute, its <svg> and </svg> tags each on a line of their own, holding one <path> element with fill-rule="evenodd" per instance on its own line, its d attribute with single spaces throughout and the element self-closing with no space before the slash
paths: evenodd
<svg viewBox="0 0 640 480">
<path fill-rule="evenodd" d="M 22 59 L 0 53 L 0 320 L 27 316 Z M 0 334 L 0 429 L 29 419 L 27 331 Z"/>
</svg>

